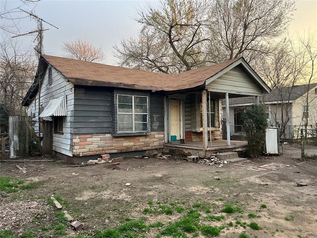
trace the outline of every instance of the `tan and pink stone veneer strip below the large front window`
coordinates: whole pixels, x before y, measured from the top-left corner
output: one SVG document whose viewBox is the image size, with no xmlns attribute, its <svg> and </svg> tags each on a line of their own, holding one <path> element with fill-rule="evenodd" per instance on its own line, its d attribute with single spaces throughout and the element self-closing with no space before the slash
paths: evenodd
<svg viewBox="0 0 317 238">
<path fill-rule="evenodd" d="M 162 149 L 164 132 L 150 135 L 112 136 L 111 134 L 73 135 L 73 155 L 89 156 Z"/>
</svg>

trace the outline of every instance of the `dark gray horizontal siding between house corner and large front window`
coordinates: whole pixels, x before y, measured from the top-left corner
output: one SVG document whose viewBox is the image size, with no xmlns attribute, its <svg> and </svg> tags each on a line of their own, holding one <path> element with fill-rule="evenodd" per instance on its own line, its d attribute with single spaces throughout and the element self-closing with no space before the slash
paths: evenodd
<svg viewBox="0 0 317 238">
<path fill-rule="evenodd" d="M 113 90 L 101 87 L 75 87 L 73 134 L 112 133 Z"/>
</svg>

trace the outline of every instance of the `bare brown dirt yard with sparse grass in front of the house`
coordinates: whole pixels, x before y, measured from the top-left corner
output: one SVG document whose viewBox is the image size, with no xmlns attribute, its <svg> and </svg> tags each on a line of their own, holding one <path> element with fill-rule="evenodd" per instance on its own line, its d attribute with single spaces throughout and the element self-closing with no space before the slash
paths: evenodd
<svg viewBox="0 0 317 238">
<path fill-rule="evenodd" d="M 1 162 L 0 177 L 25 179 L 39 186 L 12 193 L 0 191 L 0 230 L 10 229 L 15 236 L 31 230 L 35 237 L 76 237 L 145 217 L 146 224 L 164 224 L 140 233 L 140 237 L 154 238 L 168 222 L 194 207 L 201 213 L 200 224 L 223 226 L 218 237 L 317 237 L 317 161 L 301 160 L 298 146 L 284 145 L 283 151 L 281 156 L 222 167 L 188 163 L 182 158 L 128 158 L 113 168 L 105 164 L 63 168 L 67 164 L 61 161 Z M 26 173 L 16 165 L 24 166 Z M 131 185 L 126 186 L 127 182 Z M 84 224 L 82 230 L 67 227 L 67 235 L 61 236 L 56 229 L 43 228 L 56 220 L 56 208 L 48 204 L 52 195 L 68 202 L 64 209 Z M 220 212 L 228 202 L 242 211 Z M 179 204 L 185 211 L 174 210 L 168 215 L 145 212 L 158 204 L 172 208 Z M 210 211 L 204 213 L 203 207 Z M 224 219 L 204 220 L 215 214 L 224 215 Z M 261 229 L 241 225 L 251 222 Z M 206 237 L 199 232 L 187 236 Z"/>
</svg>

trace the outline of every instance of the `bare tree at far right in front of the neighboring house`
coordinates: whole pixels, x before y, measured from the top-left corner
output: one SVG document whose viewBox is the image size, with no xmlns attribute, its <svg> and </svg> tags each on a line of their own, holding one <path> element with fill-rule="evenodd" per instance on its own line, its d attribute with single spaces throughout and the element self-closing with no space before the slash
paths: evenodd
<svg viewBox="0 0 317 238">
<path fill-rule="evenodd" d="M 268 97 L 275 97 L 276 104 L 270 104 L 271 124 L 278 126 L 280 136 L 286 138 L 288 123 L 292 119 L 293 105 L 290 103 L 294 96 L 301 97 L 303 105 L 309 108 L 311 102 L 316 98 L 310 97 L 310 84 L 317 82 L 316 68 L 314 66 L 317 60 L 316 38 L 314 35 L 308 37 L 285 38 L 276 48 L 277 50 L 271 56 L 261 62 L 259 73 L 266 79 L 266 82 L 273 92 Z M 294 95 L 296 85 L 304 84 L 305 91 L 299 95 Z M 264 99 L 265 101 L 265 99 Z M 301 125 L 308 124 L 308 117 L 302 115 Z"/>
</svg>

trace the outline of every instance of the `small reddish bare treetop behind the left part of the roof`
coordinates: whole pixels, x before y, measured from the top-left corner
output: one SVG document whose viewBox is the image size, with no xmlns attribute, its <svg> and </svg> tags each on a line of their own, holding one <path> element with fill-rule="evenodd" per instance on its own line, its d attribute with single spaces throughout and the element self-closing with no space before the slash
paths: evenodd
<svg viewBox="0 0 317 238">
<path fill-rule="evenodd" d="M 105 59 L 105 54 L 101 47 L 96 48 L 86 39 L 77 39 L 71 42 L 64 42 L 62 50 L 65 52 L 64 57 L 83 60 L 83 61 L 102 61 Z"/>
</svg>

